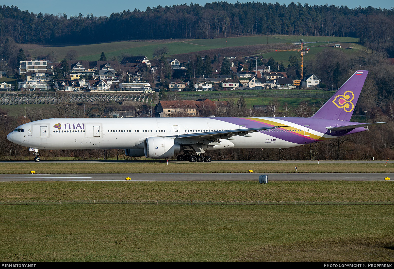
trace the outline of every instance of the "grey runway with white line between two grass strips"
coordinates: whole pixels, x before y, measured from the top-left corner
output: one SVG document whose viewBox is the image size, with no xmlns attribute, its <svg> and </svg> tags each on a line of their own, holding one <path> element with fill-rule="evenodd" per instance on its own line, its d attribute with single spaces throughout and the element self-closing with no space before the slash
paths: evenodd
<svg viewBox="0 0 394 269">
<path fill-rule="evenodd" d="M 258 181 L 258 173 L 2 174 L 9 181 Z M 394 173 L 266 173 L 268 181 L 385 181 Z"/>
</svg>

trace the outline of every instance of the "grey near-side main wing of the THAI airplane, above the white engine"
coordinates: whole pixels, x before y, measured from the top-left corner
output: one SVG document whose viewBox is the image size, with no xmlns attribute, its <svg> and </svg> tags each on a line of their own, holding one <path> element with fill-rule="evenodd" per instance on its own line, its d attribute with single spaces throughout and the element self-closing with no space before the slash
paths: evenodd
<svg viewBox="0 0 394 269">
<path fill-rule="evenodd" d="M 240 136 L 250 136 L 249 133 L 254 133 L 257 131 L 268 130 L 268 129 L 276 129 L 281 127 L 290 127 L 290 125 L 280 125 L 280 126 L 271 126 L 271 127 L 259 127 L 259 128 L 245 128 L 245 129 L 234 129 L 234 130 L 223 130 L 223 131 L 215 131 L 215 132 L 204 132 L 204 133 L 192 133 L 185 135 L 173 135 L 167 137 L 174 138 L 189 138 L 189 139 L 229 139 L 232 136 L 240 135 Z"/>
</svg>

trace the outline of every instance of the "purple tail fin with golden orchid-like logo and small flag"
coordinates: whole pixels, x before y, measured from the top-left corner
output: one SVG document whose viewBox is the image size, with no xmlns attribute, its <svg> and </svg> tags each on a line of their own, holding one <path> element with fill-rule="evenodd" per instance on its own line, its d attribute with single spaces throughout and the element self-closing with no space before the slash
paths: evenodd
<svg viewBox="0 0 394 269">
<path fill-rule="evenodd" d="M 355 72 L 312 118 L 349 121 L 367 74 L 366 70 Z"/>
</svg>

